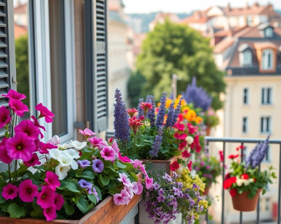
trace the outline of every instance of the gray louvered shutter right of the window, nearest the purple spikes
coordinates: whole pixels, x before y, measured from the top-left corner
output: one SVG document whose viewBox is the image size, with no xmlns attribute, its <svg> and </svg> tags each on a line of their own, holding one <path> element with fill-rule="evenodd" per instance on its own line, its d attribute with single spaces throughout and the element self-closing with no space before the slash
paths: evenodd
<svg viewBox="0 0 281 224">
<path fill-rule="evenodd" d="M 107 129 L 106 3 L 106 0 L 85 0 L 84 6 L 86 119 L 97 133 Z"/>
</svg>

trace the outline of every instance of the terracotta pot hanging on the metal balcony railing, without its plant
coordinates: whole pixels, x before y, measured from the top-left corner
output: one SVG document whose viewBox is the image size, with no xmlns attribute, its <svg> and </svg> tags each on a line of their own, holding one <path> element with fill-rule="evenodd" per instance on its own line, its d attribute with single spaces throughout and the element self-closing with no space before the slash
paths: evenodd
<svg viewBox="0 0 281 224">
<path fill-rule="evenodd" d="M 242 194 L 236 194 L 235 197 L 232 197 L 233 208 L 238 211 L 254 211 L 256 210 L 258 203 L 258 196 L 261 192 L 261 189 L 257 190 L 255 197 L 252 199 L 248 198 L 248 192 L 243 192 Z"/>
</svg>

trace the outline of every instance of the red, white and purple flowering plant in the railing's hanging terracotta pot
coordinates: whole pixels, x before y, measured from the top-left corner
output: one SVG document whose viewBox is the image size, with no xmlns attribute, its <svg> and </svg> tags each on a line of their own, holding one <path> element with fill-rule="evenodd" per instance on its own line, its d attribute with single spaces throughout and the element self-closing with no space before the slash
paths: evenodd
<svg viewBox="0 0 281 224">
<path fill-rule="evenodd" d="M 275 173 L 272 171 L 273 167 L 270 166 L 268 170 L 264 171 L 259 171 L 258 169 L 259 164 L 263 161 L 268 150 L 268 139 L 269 136 L 265 141 L 257 144 L 244 162 L 239 163 L 234 161 L 235 158 L 239 157 L 239 154 L 229 156 L 232 163 L 230 172 L 225 176 L 223 187 L 224 189 L 230 190 L 232 197 L 242 192 L 249 192 L 248 198 L 251 199 L 261 188 L 263 188 L 264 194 L 266 185 L 272 183 L 272 178 L 276 178 Z"/>
</svg>

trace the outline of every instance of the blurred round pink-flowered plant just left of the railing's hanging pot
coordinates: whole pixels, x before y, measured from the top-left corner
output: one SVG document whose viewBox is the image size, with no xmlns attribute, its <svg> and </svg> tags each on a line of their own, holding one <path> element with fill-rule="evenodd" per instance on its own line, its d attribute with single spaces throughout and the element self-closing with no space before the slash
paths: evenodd
<svg viewBox="0 0 281 224">
<path fill-rule="evenodd" d="M 216 178 L 222 172 L 221 163 L 216 157 L 208 154 L 199 156 L 194 162 L 194 169 L 199 176 L 205 178 L 204 183 L 211 185 L 217 183 Z"/>
</svg>

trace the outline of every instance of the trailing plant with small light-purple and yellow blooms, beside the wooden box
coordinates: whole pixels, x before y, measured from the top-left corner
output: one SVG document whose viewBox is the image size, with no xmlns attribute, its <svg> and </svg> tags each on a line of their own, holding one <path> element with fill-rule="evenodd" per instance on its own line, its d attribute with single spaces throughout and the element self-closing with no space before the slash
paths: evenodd
<svg viewBox="0 0 281 224">
<path fill-rule="evenodd" d="M 153 177 L 153 185 L 145 190 L 146 196 L 150 196 L 145 202 L 145 211 L 154 223 L 169 223 L 176 219 L 175 214 L 182 213 L 187 223 L 191 223 L 195 216 L 193 211 L 203 211 L 203 204 L 199 187 L 194 184 L 191 188 L 184 188 L 181 182 L 176 182 L 177 174 L 173 172 L 172 177 L 163 172 L 150 171 Z"/>
</svg>

